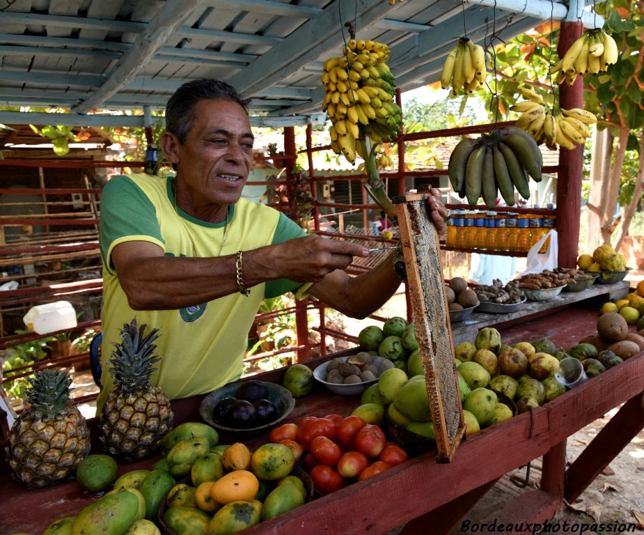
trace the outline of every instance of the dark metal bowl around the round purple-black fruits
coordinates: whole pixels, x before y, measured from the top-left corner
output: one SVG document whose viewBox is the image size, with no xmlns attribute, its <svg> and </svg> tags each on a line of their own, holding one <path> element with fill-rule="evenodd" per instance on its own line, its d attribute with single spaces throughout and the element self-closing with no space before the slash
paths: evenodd
<svg viewBox="0 0 644 535">
<path fill-rule="evenodd" d="M 210 394 L 207 394 L 207 396 L 201 400 L 201 405 L 199 405 L 199 414 L 201 414 L 204 421 L 207 421 L 208 424 L 213 426 L 219 432 L 251 436 L 259 435 L 260 433 L 268 431 L 290 414 L 295 407 L 295 398 L 293 397 L 293 394 L 291 394 L 290 391 L 285 389 L 282 385 L 278 385 L 274 382 L 260 382 L 262 385 L 267 387 L 268 400 L 271 401 L 277 409 L 277 417 L 273 421 L 269 421 L 267 424 L 262 424 L 256 427 L 232 428 L 222 426 L 212 419 L 212 412 L 214 410 L 214 406 L 217 405 L 217 402 L 223 398 L 234 398 L 235 394 L 237 394 L 239 385 L 242 384 L 242 381 L 231 382 L 228 385 L 224 385 L 223 387 L 210 392 Z"/>
</svg>

